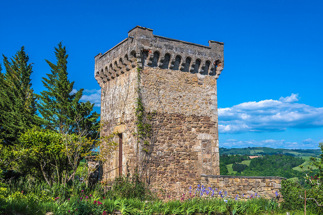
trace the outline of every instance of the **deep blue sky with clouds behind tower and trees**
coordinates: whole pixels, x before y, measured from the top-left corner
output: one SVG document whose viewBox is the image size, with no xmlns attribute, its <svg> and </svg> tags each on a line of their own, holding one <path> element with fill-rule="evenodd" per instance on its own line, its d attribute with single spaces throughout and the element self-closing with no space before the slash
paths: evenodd
<svg viewBox="0 0 323 215">
<path fill-rule="evenodd" d="M 68 50 L 69 79 L 96 103 L 94 56 L 136 25 L 207 45 L 224 42 L 218 79 L 220 147 L 318 148 L 323 141 L 322 1 L 2 1 L 0 52 L 25 45 L 36 93 Z"/>
</svg>

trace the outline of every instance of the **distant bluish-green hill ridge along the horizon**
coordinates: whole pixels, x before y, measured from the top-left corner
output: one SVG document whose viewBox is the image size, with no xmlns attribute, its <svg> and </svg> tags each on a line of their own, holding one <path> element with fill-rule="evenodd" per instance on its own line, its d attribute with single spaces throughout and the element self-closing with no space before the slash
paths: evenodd
<svg viewBox="0 0 323 215">
<path fill-rule="evenodd" d="M 248 148 L 219 148 L 220 155 L 222 154 L 247 154 L 247 155 L 274 155 L 284 154 L 293 157 L 318 157 L 321 154 L 319 149 L 273 149 L 269 147 L 248 147 Z"/>
</svg>

